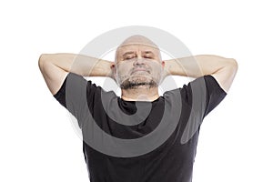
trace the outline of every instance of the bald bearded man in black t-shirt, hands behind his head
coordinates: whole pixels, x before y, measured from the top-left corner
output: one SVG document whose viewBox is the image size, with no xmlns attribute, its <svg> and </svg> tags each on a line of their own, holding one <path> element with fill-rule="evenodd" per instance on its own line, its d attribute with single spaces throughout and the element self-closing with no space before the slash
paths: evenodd
<svg viewBox="0 0 273 182">
<path fill-rule="evenodd" d="M 46 54 L 40 56 L 39 67 L 51 93 L 76 116 L 93 182 L 191 181 L 199 126 L 227 95 L 238 69 L 234 59 L 220 56 L 163 61 L 157 45 L 142 35 L 130 36 L 117 47 L 115 63 L 82 55 Z M 121 88 L 121 97 L 83 76 L 113 78 Z M 159 96 L 158 86 L 166 76 L 197 79 Z M 146 108 L 146 104 L 151 106 L 148 114 L 144 109 L 139 115 L 138 110 Z M 122 112 L 115 110 L 115 106 Z M 136 117 L 140 121 L 135 121 Z M 149 142 L 149 134 L 166 123 L 163 118 L 168 123 L 166 128 Z M 108 147 L 110 143 L 103 142 L 106 137 L 96 134 L 96 126 L 112 138 L 132 139 L 132 143 L 134 139 L 146 139 L 137 147 L 118 151 L 118 147 Z M 162 142 L 157 146 L 145 150 L 159 140 Z"/>
</svg>

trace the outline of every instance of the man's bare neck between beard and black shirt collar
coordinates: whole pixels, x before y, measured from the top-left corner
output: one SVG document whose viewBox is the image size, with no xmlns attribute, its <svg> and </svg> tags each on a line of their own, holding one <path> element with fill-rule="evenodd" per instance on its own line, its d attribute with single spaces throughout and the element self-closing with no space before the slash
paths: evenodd
<svg viewBox="0 0 273 182">
<path fill-rule="evenodd" d="M 121 98 L 126 101 L 152 102 L 158 97 L 158 87 L 138 86 L 137 88 L 121 89 Z"/>
</svg>

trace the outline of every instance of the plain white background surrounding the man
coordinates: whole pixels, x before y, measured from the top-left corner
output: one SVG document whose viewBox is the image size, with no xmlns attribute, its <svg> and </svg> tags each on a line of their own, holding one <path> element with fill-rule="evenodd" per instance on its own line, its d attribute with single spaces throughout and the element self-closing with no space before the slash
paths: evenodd
<svg viewBox="0 0 273 182">
<path fill-rule="evenodd" d="M 82 142 L 37 61 L 42 53 L 78 53 L 126 25 L 163 29 L 193 55 L 238 61 L 227 97 L 204 120 L 193 181 L 273 181 L 269 2 L 2 1 L 0 181 L 88 181 Z"/>
</svg>

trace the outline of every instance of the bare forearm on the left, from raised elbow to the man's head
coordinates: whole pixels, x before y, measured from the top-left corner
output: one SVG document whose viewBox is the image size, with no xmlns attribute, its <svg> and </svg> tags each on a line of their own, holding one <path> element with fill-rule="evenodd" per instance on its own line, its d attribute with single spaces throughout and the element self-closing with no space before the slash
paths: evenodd
<svg viewBox="0 0 273 182">
<path fill-rule="evenodd" d="M 80 76 L 111 76 L 112 62 L 69 53 L 43 54 L 39 64 L 52 64 Z"/>
</svg>

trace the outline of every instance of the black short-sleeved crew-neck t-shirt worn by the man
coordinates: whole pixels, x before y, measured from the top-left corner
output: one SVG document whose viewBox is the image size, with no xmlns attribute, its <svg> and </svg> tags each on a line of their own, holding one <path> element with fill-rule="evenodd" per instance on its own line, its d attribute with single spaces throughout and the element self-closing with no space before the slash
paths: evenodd
<svg viewBox="0 0 273 182">
<path fill-rule="evenodd" d="M 126 101 L 69 73 L 56 93 L 76 117 L 92 182 L 190 182 L 202 120 L 226 96 L 201 76 L 153 102 Z"/>
</svg>

